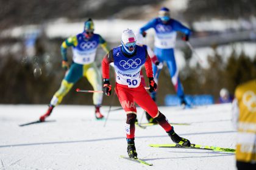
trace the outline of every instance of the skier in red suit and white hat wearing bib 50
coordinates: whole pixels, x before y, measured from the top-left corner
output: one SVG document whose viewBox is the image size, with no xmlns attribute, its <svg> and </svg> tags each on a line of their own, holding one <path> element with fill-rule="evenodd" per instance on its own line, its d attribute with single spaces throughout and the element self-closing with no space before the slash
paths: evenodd
<svg viewBox="0 0 256 170">
<path fill-rule="evenodd" d="M 157 105 L 144 89 L 143 84 L 141 84 L 140 71 L 144 64 L 146 75 L 149 78 L 149 92 L 157 90 L 157 84 L 153 78 L 151 58 L 145 47 L 136 45 L 136 38 L 132 30 L 124 30 L 121 46 L 110 50 L 102 60 L 103 90 L 107 96 L 110 96 L 112 92 L 112 85 L 110 85 L 109 81 L 110 63 L 114 63 L 116 73 L 116 94 L 127 115 L 126 140 L 129 157 L 137 158 L 134 143 L 135 120 L 137 117 L 135 103 L 146 110 L 152 118 L 157 120 L 158 124 L 171 137 L 172 141 L 183 146 L 190 146 L 189 140 L 179 137 L 174 132 L 174 128 L 168 123 L 165 115 L 158 110 Z"/>
</svg>

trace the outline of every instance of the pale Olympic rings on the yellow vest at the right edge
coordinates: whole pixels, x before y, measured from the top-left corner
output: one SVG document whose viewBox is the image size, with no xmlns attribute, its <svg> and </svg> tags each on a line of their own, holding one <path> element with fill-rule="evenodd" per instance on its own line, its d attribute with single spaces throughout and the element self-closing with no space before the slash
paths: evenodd
<svg viewBox="0 0 256 170">
<path fill-rule="evenodd" d="M 247 91 L 243 95 L 243 103 L 251 112 L 256 112 L 256 95 L 252 91 Z"/>
</svg>

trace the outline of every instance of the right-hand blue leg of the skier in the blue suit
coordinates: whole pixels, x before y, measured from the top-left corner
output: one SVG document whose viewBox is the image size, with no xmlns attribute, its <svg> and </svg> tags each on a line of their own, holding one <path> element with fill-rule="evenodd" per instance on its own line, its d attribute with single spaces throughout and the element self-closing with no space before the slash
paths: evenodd
<svg viewBox="0 0 256 170">
<path fill-rule="evenodd" d="M 177 65 L 176 65 L 174 50 L 173 49 L 168 50 L 168 55 L 169 55 L 169 58 L 166 58 L 166 64 L 169 69 L 169 74 L 171 76 L 172 84 L 177 93 L 177 96 L 181 100 L 181 103 L 187 104 L 185 101 L 184 90 L 183 90 L 182 84 L 180 83 L 179 69 L 177 68 Z"/>
</svg>

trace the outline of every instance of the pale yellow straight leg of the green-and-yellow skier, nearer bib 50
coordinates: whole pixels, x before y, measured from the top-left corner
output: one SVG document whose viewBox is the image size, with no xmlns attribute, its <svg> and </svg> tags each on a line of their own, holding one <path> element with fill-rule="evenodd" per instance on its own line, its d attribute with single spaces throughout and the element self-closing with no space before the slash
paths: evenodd
<svg viewBox="0 0 256 170">
<path fill-rule="evenodd" d="M 101 73 L 97 69 L 95 63 L 84 65 L 84 76 L 87 77 L 91 86 L 94 90 L 102 90 L 102 80 Z M 99 107 L 101 107 L 103 94 L 94 93 L 93 94 L 93 104 L 95 106 L 95 117 L 101 119 L 104 116 L 101 114 Z"/>
</svg>

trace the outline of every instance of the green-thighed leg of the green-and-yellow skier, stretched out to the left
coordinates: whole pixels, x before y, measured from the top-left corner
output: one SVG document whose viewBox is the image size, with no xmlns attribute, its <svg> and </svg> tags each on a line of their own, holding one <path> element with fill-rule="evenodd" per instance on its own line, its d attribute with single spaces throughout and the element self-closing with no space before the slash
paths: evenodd
<svg viewBox="0 0 256 170">
<path fill-rule="evenodd" d="M 44 121 L 46 117 L 51 115 L 54 107 L 62 102 L 63 97 L 68 94 L 71 87 L 73 87 L 74 83 L 76 83 L 80 77 L 82 77 L 82 65 L 73 63 L 68 72 L 66 72 L 65 78 L 62 80 L 59 90 L 57 90 L 52 97 L 48 110 L 40 117 L 40 121 Z"/>
</svg>

